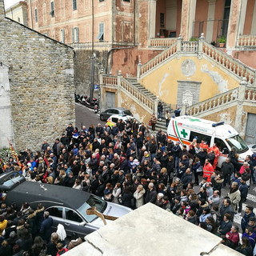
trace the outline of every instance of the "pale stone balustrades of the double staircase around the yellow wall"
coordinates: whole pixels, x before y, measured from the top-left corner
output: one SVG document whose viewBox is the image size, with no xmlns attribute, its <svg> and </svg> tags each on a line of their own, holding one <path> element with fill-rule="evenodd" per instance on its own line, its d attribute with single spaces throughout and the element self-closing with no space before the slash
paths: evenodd
<svg viewBox="0 0 256 256">
<path fill-rule="evenodd" d="M 222 52 L 222 50 L 211 46 L 205 42 L 203 35 L 198 39 L 198 42 L 186 42 L 183 41 L 182 38 L 177 38 L 176 42 L 171 41 L 170 46 L 166 48 L 166 50 L 163 50 L 162 53 L 158 54 L 144 65 L 138 64 L 137 78 L 123 78 L 121 73 L 118 74 L 118 76 L 102 74 L 100 84 L 104 86 L 118 86 L 119 90 L 129 94 L 130 98 L 134 98 L 134 102 L 142 106 L 147 113 L 156 114 L 158 96 L 150 92 L 150 90 L 147 90 L 139 81 L 141 78 L 144 78 L 147 74 L 157 69 L 158 66 L 164 64 L 164 62 L 170 61 L 172 58 L 177 58 L 181 54 L 198 54 L 198 58 L 206 58 L 210 62 L 222 66 L 222 68 L 226 69 L 227 73 L 234 75 L 238 81 L 241 82 L 243 80 L 243 82 L 246 82 L 246 86 L 256 86 L 256 71 L 254 69 L 230 57 L 230 55 Z M 214 98 L 207 99 L 204 102 L 198 102 L 198 104 L 188 106 L 185 111 L 182 108 L 182 112 L 184 114 L 202 117 L 209 110 L 218 110 L 218 106 L 223 107 L 224 105 L 228 106 L 234 104 L 234 99 L 237 100 L 238 94 L 238 90 L 230 90 L 224 94 L 218 94 Z M 171 116 L 174 115 L 176 105 L 170 105 L 166 102 L 162 102 L 162 105 L 163 115 L 166 110 L 170 110 Z M 162 122 L 157 122 L 156 128 L 158 130 L 166 130 L 165 118 L 162 119 Z"/>
</svg>

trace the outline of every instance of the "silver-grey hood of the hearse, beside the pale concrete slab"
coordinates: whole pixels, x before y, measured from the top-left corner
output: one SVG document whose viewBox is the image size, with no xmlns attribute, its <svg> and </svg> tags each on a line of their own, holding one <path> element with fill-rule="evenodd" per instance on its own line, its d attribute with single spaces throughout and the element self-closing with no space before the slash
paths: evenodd
<svg viewBox="0 0 256 256">
<path fill-rule="evenodd" d="M 107 202 L 106 210 L 103 212 L 103 214 L 120 218 L 125 214 L 129 214 L 131 211 L 132 210 L 126 206 L 120 206 L 114 202 Z M 111 222 L 111 220 L 106 219 L 106 224 Z M 93 222 L 90 222 L 90 224 L 93 224 L 98 228 L 104 226 L 101 218 L 95 218 Z"/>
</svg>

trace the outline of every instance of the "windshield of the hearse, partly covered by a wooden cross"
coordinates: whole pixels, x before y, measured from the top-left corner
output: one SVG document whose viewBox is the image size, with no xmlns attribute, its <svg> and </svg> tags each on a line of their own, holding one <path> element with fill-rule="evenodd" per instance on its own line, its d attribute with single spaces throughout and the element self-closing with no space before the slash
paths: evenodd
<svg viewBox="0 0 256 256">
<path fill-rule="evenodd" d="M 93 222 L 95 218 L 98 218 L 96 215 L 87 215 L 86 210 L 90 207 L 95 206 L 96 209 L 102 213 L 106 210 L 107 203 L 101 198 L 95 197 L 93 194 L 90 195 L 90 198 L 82 206 L 79 207 L 78 212 L 86 219 L 87 222 Z"/>
</svg>

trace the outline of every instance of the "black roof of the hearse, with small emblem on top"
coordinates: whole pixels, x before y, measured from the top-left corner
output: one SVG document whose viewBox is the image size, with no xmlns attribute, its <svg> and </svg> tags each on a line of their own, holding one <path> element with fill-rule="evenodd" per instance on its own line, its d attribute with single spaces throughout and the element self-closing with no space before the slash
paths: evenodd
<svg viewBox="0 0 256 256">
<path fill-rule="evenodd" d="M 15 200 L 15 196 L 18 198 L 24 198 L 24 202 L 52 202 L 53 205 L 66 206 L 74 209 L 78 209 L 85 203 L 90 197 L 90 193 L 82 190 L 75 190 L 66 186 L 50 185 L 39 182 L 23 182 L 19 186 L 16 186 L 13 190 L 7 193 L 12 194 Z M 58 202 L 54 204 L 54 202 Z"/>
</svg>

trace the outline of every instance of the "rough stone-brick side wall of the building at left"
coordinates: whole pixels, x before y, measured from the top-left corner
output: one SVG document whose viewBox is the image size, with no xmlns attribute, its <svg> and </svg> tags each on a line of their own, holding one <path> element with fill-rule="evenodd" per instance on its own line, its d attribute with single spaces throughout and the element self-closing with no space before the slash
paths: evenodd
<svg viewBox="0 0 256 256">
<path fill-rule="evenodd" d="M 74 122 L 74 51 L 3 16 L 0 62 L 10 67 L 10 101 L 17 150 L 41 148 Z"/>
</svg>

